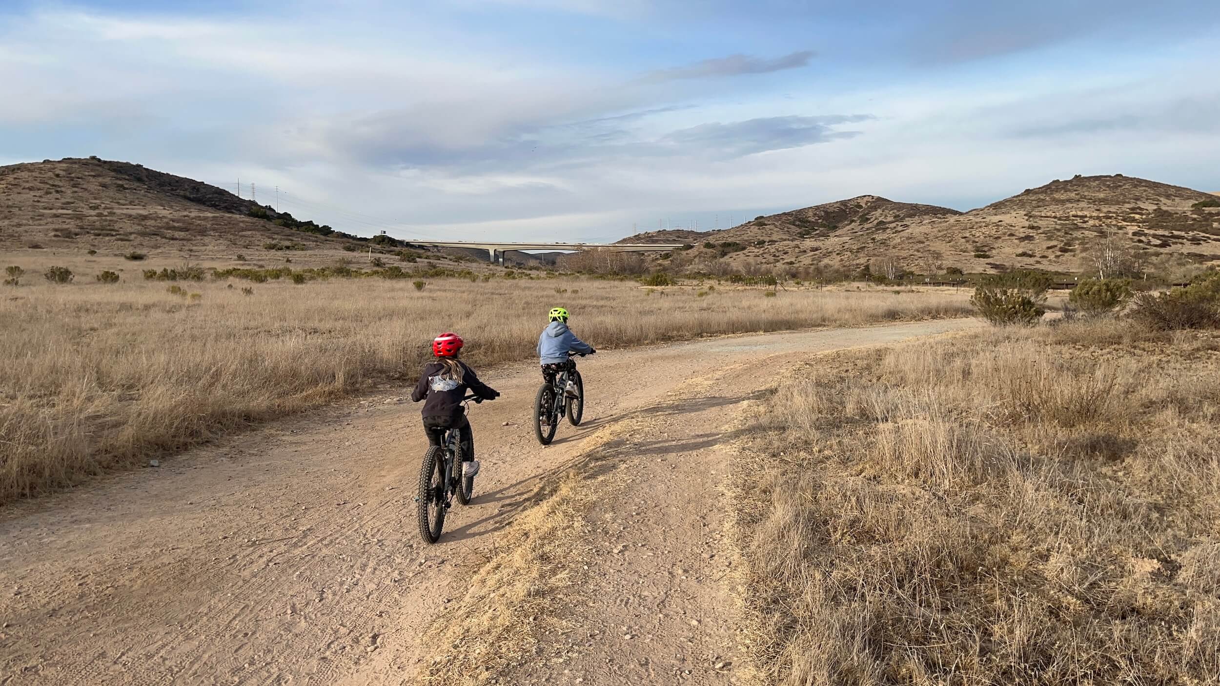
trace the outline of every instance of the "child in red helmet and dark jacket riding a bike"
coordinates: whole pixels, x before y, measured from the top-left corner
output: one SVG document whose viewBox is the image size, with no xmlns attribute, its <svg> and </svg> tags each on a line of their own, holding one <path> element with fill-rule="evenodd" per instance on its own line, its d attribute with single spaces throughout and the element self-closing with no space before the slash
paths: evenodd
<svg viewBox="0 0 1220 686">
<path fill-rule="evenodd" d="M 432 354 L 436 360 L 423 365 L 420 382 L 411 391 L 411 402 L 423 403 L 423 431 L 428 443 L 440 446 L 440 437 L 447 430 L 458 428 L 461 435 L 462 477 L 478 474 L 478 460 L 475 459 L 475 437 L 466 419 L 462 398 L 466 389 L 477 395 L 476 402 L 494 400 L 500 393 L 478 380 L 466 363 L 458 359 L 462 339 L 456 333 L 442 333 L 432 341 Z"/>
</svg>

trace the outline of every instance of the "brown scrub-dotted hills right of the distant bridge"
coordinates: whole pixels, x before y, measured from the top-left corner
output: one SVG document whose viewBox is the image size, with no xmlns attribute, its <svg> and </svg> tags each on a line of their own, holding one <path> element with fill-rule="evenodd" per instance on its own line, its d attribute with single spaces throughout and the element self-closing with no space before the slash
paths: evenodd
<svg viewBox="0 0 1220 686">
<path fill-rule="evenodd" d="M 682 239 L 695 248 L 671 259 L 711 272 L 876 269 L 878 262 L 921 273 L 946 266 L 1072 272 L 1083 267 L 1088 244 L 1109 234 L 1144 264 L 1205 264 L 1220 261 L 1220 209 L 1196 205 L 1214 200 L 1190 188 L 1121 175 L 1057 179 L 969 212 L 861 195 L 731 229 L 687 232 L 691 236 Z"/>
</svg>

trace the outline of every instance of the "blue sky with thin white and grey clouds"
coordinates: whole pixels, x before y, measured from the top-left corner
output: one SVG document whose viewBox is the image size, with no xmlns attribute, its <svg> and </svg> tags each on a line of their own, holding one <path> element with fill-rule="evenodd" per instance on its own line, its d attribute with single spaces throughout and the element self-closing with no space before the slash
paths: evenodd
<svg viewBox="0 0 1220 686">
<path fill-rule="evenodd" d="M 356 233 L 614 240 L 1075 173 L 1220 190 L 1210 1 L 0 0 L 0 164 Z"/>
</svg>

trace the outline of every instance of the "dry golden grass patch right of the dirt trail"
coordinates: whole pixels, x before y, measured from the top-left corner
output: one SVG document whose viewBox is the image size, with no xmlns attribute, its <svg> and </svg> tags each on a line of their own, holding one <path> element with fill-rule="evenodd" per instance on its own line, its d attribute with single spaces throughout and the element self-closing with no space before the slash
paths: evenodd
<svg viewBox="0 0 1220 686">
<path fill-rule="evenodd" d="M 736 481 L 756 676 L 1215 684 L 1218 350 L 1081 322 L 787 382 Z"/>
</svg>

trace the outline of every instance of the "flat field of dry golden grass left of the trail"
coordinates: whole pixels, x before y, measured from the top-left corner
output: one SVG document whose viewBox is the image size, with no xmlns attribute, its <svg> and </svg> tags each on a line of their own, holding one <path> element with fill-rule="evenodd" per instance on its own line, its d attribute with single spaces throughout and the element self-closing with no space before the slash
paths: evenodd
<svg viewBox="0 0 1220 686">
<path fill-rule="evenodd" d="M 185 289 L 176 295 L 92 273 L 52 286 L 27 270 L 30 286 L 0 292 L 0 502 L 407 378 L 443 331 L 466 338 L 475 364 L 527 359 L 556 304 L 599 348 L 969 312 L 952 295 L 698 297 L 571 280 L 447 280 L 418 293 L 409 281 L 234 280 L 171 284 Z"/>
</svg>

